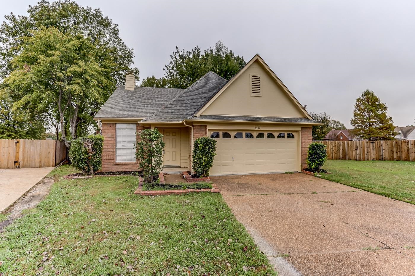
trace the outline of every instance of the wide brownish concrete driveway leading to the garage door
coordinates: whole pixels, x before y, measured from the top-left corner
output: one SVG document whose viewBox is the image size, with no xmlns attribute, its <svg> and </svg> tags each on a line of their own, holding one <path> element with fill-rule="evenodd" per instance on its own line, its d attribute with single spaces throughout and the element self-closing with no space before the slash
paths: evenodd
<svg viewBox="0 0 415 276">
<path fill-rule="evenodd" d="M 300 173 L 211 178 L 280 275 L 415 275 L 410 203 Z"/>
</svg>

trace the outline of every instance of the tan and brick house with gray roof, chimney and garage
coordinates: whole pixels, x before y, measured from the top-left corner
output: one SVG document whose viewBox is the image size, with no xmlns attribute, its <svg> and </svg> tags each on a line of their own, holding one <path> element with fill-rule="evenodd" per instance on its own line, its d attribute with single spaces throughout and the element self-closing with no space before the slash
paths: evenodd
<svg viewBox="0 0 415 276">
<path fill-rule="evenodd" d="M 130 71 L 94 119 L 102 123 L 104 172 L 137 169 L 136 132 L 158 128 L 164 167 L 191 169 L 193 141 L 217 139 L 211 175 L 300 171 L 311 127 L 322 124 L 259 55 L 230 80 L 209 71 L 187 89 L 135 87 Z"/>
</svg>

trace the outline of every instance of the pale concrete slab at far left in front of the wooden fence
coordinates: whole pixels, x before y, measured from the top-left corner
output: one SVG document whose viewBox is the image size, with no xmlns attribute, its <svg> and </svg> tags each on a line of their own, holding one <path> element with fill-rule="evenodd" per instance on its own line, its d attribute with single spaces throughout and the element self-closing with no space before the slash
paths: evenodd
<svg viewBox="0 0 415 276">
<path fill-rule="evenodd" d="M 0 169 L 0 212 L 44 178 L 54 167 Z"/>
</svg>

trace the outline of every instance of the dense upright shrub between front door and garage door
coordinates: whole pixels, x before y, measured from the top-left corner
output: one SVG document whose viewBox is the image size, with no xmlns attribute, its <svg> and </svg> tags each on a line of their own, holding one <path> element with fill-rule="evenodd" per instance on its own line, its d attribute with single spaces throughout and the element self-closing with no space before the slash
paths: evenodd
<svg viewBox="0 0 415 276">
<path fill-rule="evenodd" d="M 196 177 L 209 176 L 209 170 L 213 165 L 213 157 L 216 153 L 216 140 L 202 137 L 193 143 L 193 173 Z"/>
</svg>

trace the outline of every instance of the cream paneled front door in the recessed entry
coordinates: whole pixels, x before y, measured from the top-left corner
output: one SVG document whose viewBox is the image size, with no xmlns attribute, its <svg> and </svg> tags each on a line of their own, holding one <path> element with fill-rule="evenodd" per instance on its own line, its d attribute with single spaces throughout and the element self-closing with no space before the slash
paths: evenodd
<svg viewBox="0 0 415 276">
<path fill-rule="evenodd" d="M 180 166 L 180 128 L 163 128 L 163 166 Z"/>
</svg>

